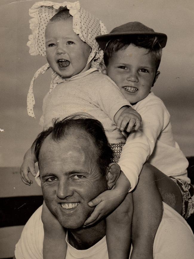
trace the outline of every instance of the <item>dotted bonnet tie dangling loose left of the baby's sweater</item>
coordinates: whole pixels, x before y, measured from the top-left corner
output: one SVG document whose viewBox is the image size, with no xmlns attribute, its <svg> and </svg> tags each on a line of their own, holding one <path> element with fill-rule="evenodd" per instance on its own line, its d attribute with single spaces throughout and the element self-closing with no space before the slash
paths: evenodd
<svg viewBox="0 0 194 259">
<path fill-rule="evenodd" d="M 30 88 L 28 90 L 27 94 L 27 112 L 30 117 L 36 118 L 34 115 L 33 107 L 35 105 L 35 99 L 34 99 L 34 94 L 33 94 L 33 83 L 34 80 L 39 76 L 40 73 L 44 74 L 48 69 L 50 68 L 49 64 L 45 64 L 39 70 L 36 71 L 36 73 L 33 76 L 33 79 L 30 83 Z"/>
</svg>

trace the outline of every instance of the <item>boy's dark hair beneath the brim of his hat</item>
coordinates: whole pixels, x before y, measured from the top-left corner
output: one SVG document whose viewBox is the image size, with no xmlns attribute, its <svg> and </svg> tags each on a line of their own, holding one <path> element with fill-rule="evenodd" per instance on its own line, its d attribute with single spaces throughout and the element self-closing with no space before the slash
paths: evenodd
<svg viewBox="0 0 194 259">
<path fill-rule="evenodd" d="M 128 38 L 127 38 L 128 37 Z M 156 36 L 122 36 L 116 39 L 111 39 L 104 49 L 104 64 L 107 66 L 113 53 L 118 50 L 126 49 L 130 44 L 133 44 L 140 48 L 145 48 L 148 53 L 151 53 L 155 58 L 156 71 L 160 65 L 162 48 Z"/>
</svg>

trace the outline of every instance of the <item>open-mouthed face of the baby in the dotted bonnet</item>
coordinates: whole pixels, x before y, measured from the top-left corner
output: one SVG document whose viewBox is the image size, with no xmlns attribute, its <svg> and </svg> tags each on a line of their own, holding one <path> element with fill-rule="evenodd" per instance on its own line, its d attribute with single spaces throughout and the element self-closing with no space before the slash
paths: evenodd
<svg viewBox="0 0 194 259">
<path fill-rule="evenodd" d="M 86 71 L 90 46 L 73 31 L 73 18 L 49 22 L 45 30 L 46 56 L 50 67 L 69 78 Z"/>
</svg>

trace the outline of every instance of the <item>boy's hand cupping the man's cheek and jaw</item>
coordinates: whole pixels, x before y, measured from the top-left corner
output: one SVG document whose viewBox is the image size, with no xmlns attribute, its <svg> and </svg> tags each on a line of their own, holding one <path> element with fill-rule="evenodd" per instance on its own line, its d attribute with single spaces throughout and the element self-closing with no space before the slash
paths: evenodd
<svg viewBox="0 0 194 259">
<path fill-rule="evenodd" d="M 94 200 L 91 200 L 88 205 L 96 206 L 90 217 L 85 221 L 84 227 L 90 226 L 116 209 L 124 200 L 126 193 L 120 193 L 118 190 L 112 189 L 104 191 Z"/>
</svg>

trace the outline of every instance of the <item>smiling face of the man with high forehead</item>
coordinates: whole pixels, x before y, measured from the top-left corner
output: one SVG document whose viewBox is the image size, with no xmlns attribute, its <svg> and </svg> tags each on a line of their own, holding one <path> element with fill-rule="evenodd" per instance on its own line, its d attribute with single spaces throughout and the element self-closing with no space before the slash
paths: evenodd
<svg viewBox="0 0 194 259">
<path fill-rule="evenodd" d="M 51 213 L 65 228 L 83 226 L 93 212 L 88 202 L 107 190 L 106 176 L 96 163 L 96 147 L 90 136 L 72 130 L 64 140 L 50 136 L 39 154 L 41 188 Z"/>
</svg>

